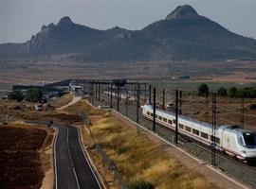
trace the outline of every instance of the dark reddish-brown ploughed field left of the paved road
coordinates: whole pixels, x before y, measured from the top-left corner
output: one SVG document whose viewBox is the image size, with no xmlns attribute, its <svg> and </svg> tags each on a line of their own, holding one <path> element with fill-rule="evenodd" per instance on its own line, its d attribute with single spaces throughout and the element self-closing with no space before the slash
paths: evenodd
<svg viewBox="0 0 256 189">
<path fill-rule="evenodd" d="M 1 188 L 40 188 L 52 168 L 51 156 L 46 154 L 52 139 L 53 130 L 23 124 L 1 126 Z M 47 177 L 51 177 L 48 184 L 53 184 L 53 175 Z"/>
</svg>

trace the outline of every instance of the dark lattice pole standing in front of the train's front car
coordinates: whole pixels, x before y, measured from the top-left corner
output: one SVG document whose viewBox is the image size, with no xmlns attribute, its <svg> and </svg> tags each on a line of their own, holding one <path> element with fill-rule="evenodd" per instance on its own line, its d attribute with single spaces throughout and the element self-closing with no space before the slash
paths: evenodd
<svg viewBox="0 0 256 189">
<path fill-rule="evenodd" d="M 216 94 L 212 93 L 212 107 L 211 107 L 211 164 L 216 165 Z"/>
</svg>

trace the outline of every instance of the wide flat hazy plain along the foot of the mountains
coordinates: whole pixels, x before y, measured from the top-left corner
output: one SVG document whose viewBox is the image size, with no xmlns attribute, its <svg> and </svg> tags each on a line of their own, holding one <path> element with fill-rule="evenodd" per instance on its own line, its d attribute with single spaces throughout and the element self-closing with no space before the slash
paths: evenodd
<svg viewBox="0 0 256 189">
<path fill-rule="evenodd" d="M 256 83 L 254 61 L 137 61 L 137 62 L 73 62 L 67 60 L 0 61 L 0 89 L 10 89 L 12 84 L 41 84 L 66 78 L 126 78 L 154 83 L 170 83 L 192 89 L 192 83 L 208 82 L 212 85 Z M 118 72 L 117 72 L 118 70 Z M 178 79 L 190 76 L 190 79 Z M 183 83 L 180 86 L 179 83 Z M 191 84 L 190 84 L 191 83 Z M 183 85 L 183 84 L 182 84 Z M 226 85 L 226 84 L 225 84 Z"/>
</svg>

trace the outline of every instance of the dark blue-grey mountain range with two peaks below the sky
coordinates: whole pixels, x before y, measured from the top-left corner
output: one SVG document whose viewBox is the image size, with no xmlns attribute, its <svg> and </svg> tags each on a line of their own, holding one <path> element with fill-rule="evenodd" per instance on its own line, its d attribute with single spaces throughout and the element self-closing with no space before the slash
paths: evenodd
<svg viewBox="0 0 256 189">
<path fill-rule="evenodd" d="M 64 17 L 57 25 L 42 26 L 27 43 L 0 44 L 0 60 L 56 55 L 88 61 L 256 60 L 256 41 L 184 5 L 141 30 L 99 30 Z"/>
</svg>

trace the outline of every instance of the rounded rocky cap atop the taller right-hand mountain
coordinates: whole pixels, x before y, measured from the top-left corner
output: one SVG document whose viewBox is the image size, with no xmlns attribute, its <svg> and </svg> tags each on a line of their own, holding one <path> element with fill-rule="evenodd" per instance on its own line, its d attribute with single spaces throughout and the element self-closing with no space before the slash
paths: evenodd
<svg viewBox="0 0 256 189">
<path fill-rule="evenodd" d="M 178 6 L 174 11 L 172 11 L 167 17 L 166 20 L 174 20 L 174 19 L 180 19 L 180 18 L 194 18 L 198 17 L 199 15 L 189 5 L 184 6 Z"/>
</svg>

